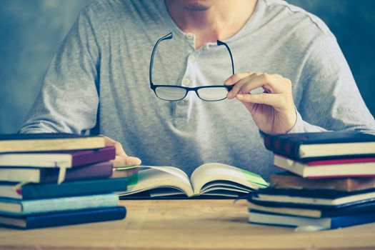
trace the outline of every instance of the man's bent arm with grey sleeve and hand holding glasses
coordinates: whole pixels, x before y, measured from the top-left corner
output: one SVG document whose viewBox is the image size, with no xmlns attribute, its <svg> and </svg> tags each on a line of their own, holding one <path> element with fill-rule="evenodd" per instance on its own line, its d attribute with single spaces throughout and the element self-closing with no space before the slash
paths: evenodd
<svg viewBox="0 0 375 250">
<path fill-rule="evenodd" d="M 326 130 L 375 131 L 374 117 L 364 104 L 348 64 L 334 36 L 324 36 L 306 52 L 298 88 L 297 108 L 289 79 L 277 74 L 235 74 L 224 84 L 235 84 L 228 98 L 236 98 L 249 110 L 257 126 L 267 134 Z M 249 94 L 263 86 L 266 93 Z M 301 112 L 301 113 L 299 113 Z"/>
</svg>

